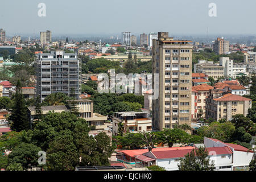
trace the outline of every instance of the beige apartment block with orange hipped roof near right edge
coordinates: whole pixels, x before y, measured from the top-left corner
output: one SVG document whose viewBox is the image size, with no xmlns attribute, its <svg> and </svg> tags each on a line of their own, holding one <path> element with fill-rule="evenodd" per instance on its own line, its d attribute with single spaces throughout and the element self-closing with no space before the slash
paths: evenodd
<svg viewBox="0 0 256 182">
<path fill-rule="evenodd" d="M 232 115 L 247 115 L 251 108 L 251 99 L 226 93 L 222 90 L 210 90 L 210 95 L 206 99 L 206 119 L 232 119 Z"/>
</svg>

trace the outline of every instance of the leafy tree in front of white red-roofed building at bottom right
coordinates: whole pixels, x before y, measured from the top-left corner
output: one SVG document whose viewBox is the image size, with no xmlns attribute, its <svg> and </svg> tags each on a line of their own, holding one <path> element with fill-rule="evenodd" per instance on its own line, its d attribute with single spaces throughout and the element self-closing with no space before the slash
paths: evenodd
<svg viewBox="0 0 256 182">
<path fill-rule="evenodd" d="M 200 147 L 186 154 L 185 158 L 180 158 L 178 167 L 180 171 L 213 171 L 214 164 L 210 164 L 205 147 Z"/>
</svg>

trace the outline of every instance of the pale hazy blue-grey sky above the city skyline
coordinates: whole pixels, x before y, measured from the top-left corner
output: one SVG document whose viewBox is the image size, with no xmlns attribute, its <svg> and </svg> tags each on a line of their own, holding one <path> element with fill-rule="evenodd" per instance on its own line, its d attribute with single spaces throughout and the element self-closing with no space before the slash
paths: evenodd
<svg viewBox="0 0 256 182">
<path fill-rule="evenodd" d="M 46 4 L 46 17 L 38 4 Z M 208 15 L 216 3 L 217 17 Z M 1 0 L 0 28 L 7 36 L 51 30 L 57 34 L 255 34 L 254 0 Z"/>
</svg>

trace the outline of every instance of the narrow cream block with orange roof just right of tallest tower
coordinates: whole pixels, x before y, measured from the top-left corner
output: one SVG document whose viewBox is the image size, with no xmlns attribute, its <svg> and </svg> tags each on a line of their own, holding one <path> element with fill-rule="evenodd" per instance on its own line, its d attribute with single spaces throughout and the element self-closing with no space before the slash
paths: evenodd
<svg viewBox="0 0 256 182">
<path fill-rule="evenodd" d="M 213 89 L 213 86 L 210 86 L 208 84 L 192 86 L 192 119 L 199 119 L 205 117 L 206 97 L 209 96 L 210 89 Z"/>
</svg>

